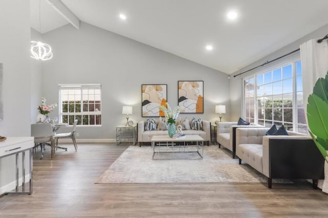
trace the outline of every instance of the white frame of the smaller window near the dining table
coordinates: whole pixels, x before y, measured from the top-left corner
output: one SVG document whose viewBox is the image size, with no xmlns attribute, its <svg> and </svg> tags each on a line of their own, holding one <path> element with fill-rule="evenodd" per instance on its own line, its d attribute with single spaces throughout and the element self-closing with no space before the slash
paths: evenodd
<svg viewBox="0 0 328 218">
<path fill-rule="evenodd" d="M 63 122 L 63 116 L 69 115 L 69 116 L 81 116 L 83 117 L 84 115 L 100 115 L 101 116 L 101 84 L 58 84 L 59 92 L 58 92 L 58 99 L 59 99 L 59 122 Z M 63 112 L 63 100 L 61 99 L 61 91 L 63 90 L 80 90 L 80 108 L 81 112 Z M 93 112 L 84 112 L 83 111 L 83 91 L 85 90 L 100 90 L 100 111 L 93 111 Z M 100 124 L 83 124 L 81 121 L 78 122 L 78 126 L 101 126 L 101 120 Z"/>
</svg>

